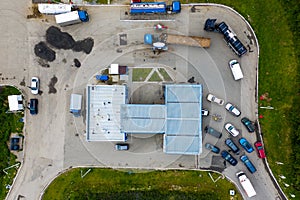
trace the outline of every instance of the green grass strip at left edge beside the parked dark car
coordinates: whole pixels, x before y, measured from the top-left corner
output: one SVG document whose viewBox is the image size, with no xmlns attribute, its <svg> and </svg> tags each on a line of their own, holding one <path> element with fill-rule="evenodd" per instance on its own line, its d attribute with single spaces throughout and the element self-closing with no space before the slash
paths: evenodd
<svg viewBox="0 0 300 200">
<path fill-rule="evenodd" d="M 24 117 L 23 113 L 6 113 L 8 108 L 8 95 L 20 94 L 14 87 L 0 86 L 0 199 L 5 199 L 8 192 L 6 185 L 11 185 L 13 178 L 17 172 L 16 168 L 7 170 L 6 174 L 3 169 L 16 164 L 16 156 L 10 153 L 8 149 L 8 141 L 11 133 L 21 133 L 23 130 L 23 123 L 19 122 L 20 118 Z"/>
</svg>

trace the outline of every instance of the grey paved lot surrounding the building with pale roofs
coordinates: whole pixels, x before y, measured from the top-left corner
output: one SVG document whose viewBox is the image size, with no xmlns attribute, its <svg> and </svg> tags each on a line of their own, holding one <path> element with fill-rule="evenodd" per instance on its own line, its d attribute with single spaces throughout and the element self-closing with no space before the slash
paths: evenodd
<svg viewBox="0 0 300 200">
<path fill-rule="evenodd" d="M 131 151 L 125 156 L 124 153 L 112 150 L 113 143 L 99 145 L 99 143 L 85 141 L 85 118 L 75 119 L 68 113 L 69 95 L 72 92 L 84 94 L 85 86 L 93 82 L 93 76 L 113 62 L 125 63 L 131 67 L 142 67 L 147 63 L 163 65 L 174 82 L 186 82 L 194 76 L 196 82 L 203 84 L 205 95 L 208 92 L 214 93 L 226 101 L 239 105 L 242 113 L 247 113 L 250 119 L 256 119 L 257 47 L 253 45 L 253 53 L 238 59 L 243 67 L 245 78 L 235 82 L 227 63 L 229 59 L 236 58 L 236 55 L 226 46 L 220 34 L 203 31 L 206 18 L 223 19 L 230 22 L 230 26 L 242 41 L 247 42 L 249 30 L 239 16 L 231 11 L 213 7 L 196 7 L 196 12 L 190 12 L 190 7 L 183 8 L 181 14 L 173 16 L 174 19 L 166 22 L 170 27 L 169 31 L 211 37 L 211 48 L 170 46 L 169 52 L 153 56 L 150 49 L 142 44 L 144 33 L 153 32 L 153 22 L 124 21 L 126 7 L 89 7 L 90 22 L 65 27 L 62 30 L 73 35 L 76 40 L 92 37 L 95 46 L 91 54 L 55 50 L 56 60 L 49 63 L 50 67 L 46 68 L 39 64 L 40 60 L 34 55 L 33 48 L 35 44 L 45 40 L 45 31 L 54 25 L 53 16 L 26 19 L 31 12 L 28 9 L 29 1 L 15 3 L 5 0 L 1 1 L 0 7 L 2 10 L 0 24 L 5 28 L 3 30 L 7 30 L 0 33 L 0 43 L 6 49 L 0 55 L 2 76 L 0 84 L 16 85 L 28 100 L 33 98 L 33 95 L 26 86 L 30 83 L 31 76 L 38 76 L 42 91 L 37 97 L 39 114 L 37 116 L 31 116 L 29 112 L 25 114 L 23 164 L 7 199 L 19 197 L 39 199 L 40 193 L 47 184 L 56 175 L 72 166 L 160 169 L 197 167 L 194 156 L 164 154 L 161 148 L 162 137 L 157 135 L 146 135 L 143 138 L 130 137 Z M 127 45 L 118 45 L 119 34 L 127 34 Z M 81 61 L 81 68 L 71 67 L 74 58 Z M 49 84 L 53 78 L 57 78 L 56 92 L 51 93 Z M 133 89 L 140 87 L 139 84 L 132 84 L 132 86 Z M 243 136 L 251 143 L 256 141 L 256 136 L 247 133 L 239 123 L 239 119 L 231 116 L 220 106 L 205 100 L 203 102 L 204 107 L 211 113 L 219 113 L 226 121 L 236 123 L 237 127 L 242 129 Z M 222 123 L 213 122 L 209 118 L 204 120 L 204 124 L 210 124 L 219 130 L 223 129 Z M 223 135 L 226 135 L 224 131 Z M 225 148 L 224 139 L 224 136 L 220 140 L 204 136 L 204 142 L 209 141 L 221 148 Z M 249 158 L 258 169 L 255 175 L 247 174 L 258 193 L 257 198 L 253 199 L 276 199 L 277 191 L 264 170 L 262 160 L 258 159 L 255 153 L 249 155 Z M 212 157 L 212 154 L 206 150 L 203 150 L 203 154 L 199 157 L 199 166 L 203 168 L 217 166 L 222 169 L 222 163 L 223 159 Z M 237 167 L 227 165 L 223 173 L 236 182 L 235 173 L 239 170 L 246 171 L 241 162 Z"/>
</svg>

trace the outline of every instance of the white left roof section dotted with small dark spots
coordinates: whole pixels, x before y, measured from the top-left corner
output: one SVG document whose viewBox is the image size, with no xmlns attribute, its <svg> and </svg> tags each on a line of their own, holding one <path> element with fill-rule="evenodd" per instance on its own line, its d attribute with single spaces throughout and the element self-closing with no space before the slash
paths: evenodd
<svg viewBox="0 0 300 200">
<path fill-rule="evenodd" d="M 87 86 L 87 141 L 125 140 L 120 130 L 120 109 L 126 99 L 126 86 Z"/>
</svg>

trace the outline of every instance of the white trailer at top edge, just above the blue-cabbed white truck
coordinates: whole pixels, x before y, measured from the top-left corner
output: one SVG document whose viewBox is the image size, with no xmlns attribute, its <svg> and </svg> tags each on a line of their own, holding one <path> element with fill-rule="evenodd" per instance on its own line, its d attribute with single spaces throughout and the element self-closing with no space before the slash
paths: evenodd
<svg viewBox="0 0 300 200">
<path fill-rule="evenodd" d="M 38 10 L 42 14 L 61 14 L 71 12 L 72 5 L 71 4 L 50 4 L 50 3 L 40 3 L 38 4 Z"/>
</svg>

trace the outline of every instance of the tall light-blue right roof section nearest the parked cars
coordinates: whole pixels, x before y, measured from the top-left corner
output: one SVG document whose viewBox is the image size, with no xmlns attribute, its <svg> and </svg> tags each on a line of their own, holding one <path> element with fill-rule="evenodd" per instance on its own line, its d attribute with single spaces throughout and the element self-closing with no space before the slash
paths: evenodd
<svg viewBox="0 0 300 200">
<path fill-rule="evenodd" d="M 199 155 L 202 152 L 202 86 L 166 85 L 164 152 Z"/>
</svg>

